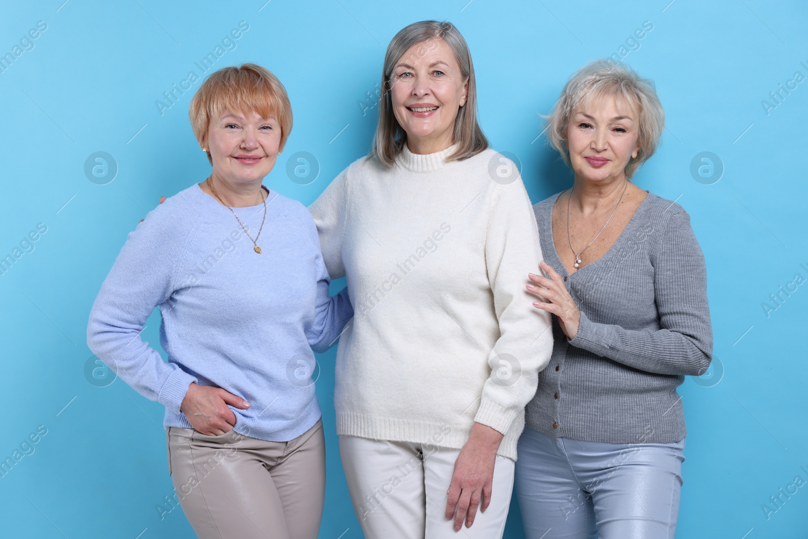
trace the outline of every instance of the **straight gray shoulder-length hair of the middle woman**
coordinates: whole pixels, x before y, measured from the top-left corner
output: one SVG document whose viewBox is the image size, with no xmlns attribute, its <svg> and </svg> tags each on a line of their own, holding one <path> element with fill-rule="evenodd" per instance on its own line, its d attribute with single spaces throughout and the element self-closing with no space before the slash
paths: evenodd
<svg viewBox="0 0 808 539">
<path fill-rule="evenodd" d="M 461 75 L 469 80 L 465 105 L 460 107 L 455 118 L 454 143 L 457 145 L 457 149 L 448 156 L 448 160 L 461 161 L 488 148 L 488 139 L 482 134 L 482 129 L 477 121 L 477 84 L 474 80 L 474 65 L 471 62 L 469 45 L 465 43 L 463 36 L 452 23 L 426 20 L 402 28 L 390 41 L 387 53 L 385 53 L 385 65 L 381 72 L 379 122 L 373 137 L 373 145 L 368 154 L 370 158 L 376 159 L 385 166 L 393 166 L 396 157 L 406 144 L 406 132 L 393 115 L 393 101 L 390 95 L 393 87 L 393 69 L 411 47 L 431 39 L 444 40 L 452 48 L 455 60 L 460 65 Z M 426 51 L 426 46 L 424 51 Z"/>
</svg>

